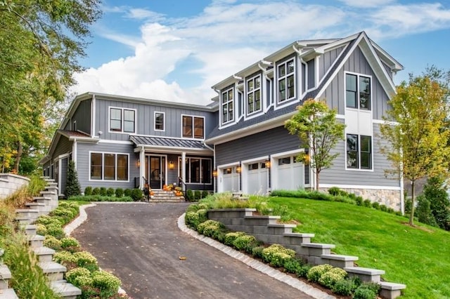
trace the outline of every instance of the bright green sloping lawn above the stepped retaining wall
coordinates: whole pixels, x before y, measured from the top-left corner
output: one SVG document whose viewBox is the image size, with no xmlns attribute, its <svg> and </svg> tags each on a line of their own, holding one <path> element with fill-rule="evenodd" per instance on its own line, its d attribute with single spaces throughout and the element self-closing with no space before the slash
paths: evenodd
<svg viewBox="0 0 450 299">
<path fill-rule="evenodd" d="M 406 284 L 402 298 L 450 298 L 450 233 L 405 225 L 407 219 L 332 201 L 276 198 L 312 242 L 335 244 L 333 252 L 359 257 L 360 267 L 385 270 L 386 281 Z"/>
</svg>

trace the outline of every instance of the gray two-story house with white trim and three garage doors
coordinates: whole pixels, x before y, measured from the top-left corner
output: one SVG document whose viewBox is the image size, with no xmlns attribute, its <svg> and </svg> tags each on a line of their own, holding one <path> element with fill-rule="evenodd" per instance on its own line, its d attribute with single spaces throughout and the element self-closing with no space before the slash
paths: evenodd
<svg viewBox="0 0 450 299">
<path fill-rule="evenodd" d="M 178 176 L 218 192 L 314 187 L 312 170 L 295 160 L 308 144 L 300 145 L 284 122 L 304 100 L 326 99 L 346 128 L 320 189 L 337 186 L 401 209 L 403 180 L 385 175 L 390 163 L 379 150 L 401 69 L 360 32 L 295 41 L 212 86 L 218 96 L 207 106 L 79 95 L 42 160 L 44 174 L 62 192 L 68 159 L 76 161 L 83 188 L 134 187 L 146 177 L 158 189 Z"/>
</svg>

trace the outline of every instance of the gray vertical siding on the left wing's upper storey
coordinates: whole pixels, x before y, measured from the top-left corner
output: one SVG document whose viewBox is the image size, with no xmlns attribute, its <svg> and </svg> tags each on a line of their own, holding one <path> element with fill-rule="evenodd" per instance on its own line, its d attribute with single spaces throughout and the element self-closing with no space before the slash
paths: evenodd
<svg viewBox="0 0 450 299">
<path fill-rule="evenodd" d="M 205 117 L 205 134 L 217 126 L 217 119 L 211 111 L 198 111 L 182 107 L 166 107 L 154 105 L 151 102 L 126 102 L 118 100 L 106 100 L 96 98 L 96 131 L 102 131 L 102 139 L 128 141 L 129 133 L 109 132 L 109 108 L 120 107 L 125 109 L 136 109 L 136 135 L 152 135 L 162 137 L 181 138 L 181 115 L 194 117 Z M 165 130 L 155 131 L 155 112 L 165 114 Z"/>
</svg>

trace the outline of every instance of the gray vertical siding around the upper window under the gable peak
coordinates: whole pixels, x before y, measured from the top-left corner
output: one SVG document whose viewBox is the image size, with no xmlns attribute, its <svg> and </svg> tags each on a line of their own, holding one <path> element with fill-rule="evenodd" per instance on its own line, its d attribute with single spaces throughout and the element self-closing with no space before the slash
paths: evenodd
<svg viewBox="0 0 450 299">
<path fill-rule="evenodd" d="M 354 52 L 345 61 L 343 67 L 321 96 L 321 98 L 326 98 L 328 107 L 337 108 L 338 114 L 345 114 L 345 72 L 353 72 L 371 77 L 373 119 L 383 119 L 383 115 L 385 115 L 389 108 L 387 105 L 389 97 L 359 46 L 355 48 Z"/>
</svg>

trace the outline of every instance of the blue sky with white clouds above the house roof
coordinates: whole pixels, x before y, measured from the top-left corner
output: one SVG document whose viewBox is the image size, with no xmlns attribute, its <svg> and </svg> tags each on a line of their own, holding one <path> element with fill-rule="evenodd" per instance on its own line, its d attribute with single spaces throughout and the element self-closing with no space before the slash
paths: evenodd
<svg viewBox="0 0 450 299">
<path fill-rule="evenodd" d="M 302 39 L 365 31 L 408 74 L 449 70 L 450 2 L 103 0 L 74 91 L 206 104 L 218 81 Z"/>
</svg>

